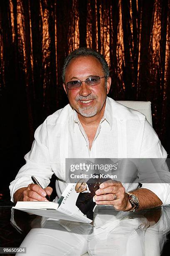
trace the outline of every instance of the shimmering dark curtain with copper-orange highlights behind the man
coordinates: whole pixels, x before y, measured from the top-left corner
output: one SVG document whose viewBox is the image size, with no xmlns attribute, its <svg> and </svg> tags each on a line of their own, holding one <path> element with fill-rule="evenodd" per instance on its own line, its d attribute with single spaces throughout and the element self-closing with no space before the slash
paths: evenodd
<svg viewBox="0 0 170 256">
<path fill-rule="evenodd" d="M 1 0 L 3 150 L 30 149 L 35 128 L 67 104 L 61 69 L 92 47 L 110 66 L 115 100 L 152 102 L 153 126 L 170 151 L 170 0 Z"/>
</svg>

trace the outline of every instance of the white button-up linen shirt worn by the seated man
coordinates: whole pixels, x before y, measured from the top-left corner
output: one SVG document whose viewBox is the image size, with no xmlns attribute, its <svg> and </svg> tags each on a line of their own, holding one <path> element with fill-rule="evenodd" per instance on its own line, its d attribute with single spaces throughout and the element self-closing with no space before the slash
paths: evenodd
<svg viewBox="0 0 170 256">
<path fill-rule="evenodd" d="M 26 164 L 10 183 L 11 200 L 21 187 L 32 183 L 35 176 L 47 187 L 53 174 L 65 181 L 65 158 L 167 158 L 167 153 L 145 115 L 107 97 L 105 112 L 98 126 L 91 150 L 77 113 L 68 104 L 57 110 L 35 131 L 32 148 L 25 155 Z M 137 188 L 126 184 L 126 191 Z M 58 197 L 66 184 L 57 181 Z M 163 202 L 170 204 L 170 185 L 143 184 Z"/>
</svg>

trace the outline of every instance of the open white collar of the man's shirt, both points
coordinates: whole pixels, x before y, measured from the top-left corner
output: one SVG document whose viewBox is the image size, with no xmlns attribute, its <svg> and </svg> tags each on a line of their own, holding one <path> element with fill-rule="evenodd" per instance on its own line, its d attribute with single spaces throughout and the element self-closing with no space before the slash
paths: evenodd
<svg viewBox="0 0 170 256">
<path fill-rule="evenodd" d="M 109 98 L 106 98 L 106 106 L 105 106 L 105 112 L 104 115 L 100 121 L 102 123 L 104 120 L 107 121 L 107 123 L 110 125 L 110 130 L 112 130 L 112 107 Z M 80 123 L 80 120 L 78 118 L 77 112 L 74 110 L 74 115 L 73 115 L 73 131 L 75 128 L 75 123 Z"/>
</svg>

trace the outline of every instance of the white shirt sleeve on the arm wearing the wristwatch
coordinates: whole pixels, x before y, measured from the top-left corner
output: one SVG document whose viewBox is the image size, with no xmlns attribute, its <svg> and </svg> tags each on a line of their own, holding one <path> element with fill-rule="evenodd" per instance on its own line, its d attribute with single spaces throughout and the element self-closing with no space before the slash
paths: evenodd
<svg viewBox="0 0 170 256">
<path fill-rule="evenodd" d="M 166 159 L 167 152 L 161 145 L 161 142 L 158 138 L 158 135 L 155 133 L 153 127 L 145 121 L 145 130 L 143 135 L 143 143 L 141 147 L 140 159 Z M 169 181 L 170 172 L 168 170 L 168 166 L 165 165 L 165 168 L 162 170 L 167 175 L 167 181 Z M 142 188 L 149 189 L 155 195 L 157 195 L 160 200 L 163 202 L 163 205 L 170 204 L 170 183 L 143 183 Z"/>
</svg>

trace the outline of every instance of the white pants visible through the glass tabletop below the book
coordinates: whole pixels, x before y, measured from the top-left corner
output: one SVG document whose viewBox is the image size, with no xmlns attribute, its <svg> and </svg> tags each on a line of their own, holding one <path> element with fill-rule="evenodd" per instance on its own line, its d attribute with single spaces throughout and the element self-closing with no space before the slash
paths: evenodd
<svg viewBox="0 0 170 256">
<path fill-rule="evenodd" d="M 139 219 L 108 222 L 99 228 L 48 220 L 43 228 L 30 230 L 20 247 L 26 247 L 27 256 L 80 256 L 87 251 L 90 256 L 143 256 L 144 235 Z"/>
</svg>

